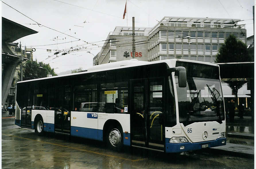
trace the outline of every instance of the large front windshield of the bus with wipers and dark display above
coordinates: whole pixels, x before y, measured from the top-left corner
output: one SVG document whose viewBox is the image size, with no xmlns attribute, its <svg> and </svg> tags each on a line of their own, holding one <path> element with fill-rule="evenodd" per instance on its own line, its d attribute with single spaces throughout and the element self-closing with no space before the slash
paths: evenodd
<svg viewBox="0 0 256 169">
<path fill-rule="evenodd" d="M 180 88 L 175 74 L 179 122 L 185 126 L 194 122 L 224 120 L 224 105 L 219 68 L 217 66 L 178 62 L 187 71 L 187 87 Z"/>
</svg>

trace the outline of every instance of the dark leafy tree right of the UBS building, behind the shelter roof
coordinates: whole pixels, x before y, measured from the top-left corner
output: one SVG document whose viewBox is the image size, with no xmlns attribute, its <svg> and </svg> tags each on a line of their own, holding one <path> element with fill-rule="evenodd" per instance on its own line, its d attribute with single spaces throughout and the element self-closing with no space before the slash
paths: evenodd
<svg viewBox="0 0 256 169">
<path fill-rule="evenodd" d="M 226 38 L 225 43 L 219 49 L 218 54 L 216 55 L 217 63 L 228 63 L 228 62 L 251 62 L 252 58 L 247 50 L 247 46 L 240 40 L 237 40 L 236 37 L 232 34 Z M 244 80 L 230 80 L 226 81 L 228 86 L 231 88 L 232 92 L 236 97 L 237 104 L 237 93 L 247 81 Z"/>
</svg>

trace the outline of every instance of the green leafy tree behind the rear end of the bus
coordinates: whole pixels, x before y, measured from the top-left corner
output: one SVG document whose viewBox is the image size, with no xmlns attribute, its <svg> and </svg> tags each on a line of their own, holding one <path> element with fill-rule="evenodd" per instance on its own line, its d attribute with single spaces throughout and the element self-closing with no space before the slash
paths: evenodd
<svg viewBox="0 0 256 169">
<path fill-rule="evenodd" d="M 23 80 L 47 77 L 48 72 L 45 69 L 39 67 L 43 67 L 48 70 L 49 74 L 57 76 L 57 74 L 54 72 L 54 69 L 52 69 L 49 64 L 44 64 L 43 62 L 37 63 L 37 61 L 28 60 L 26 63 L 23 63 Z"/>
</svg>

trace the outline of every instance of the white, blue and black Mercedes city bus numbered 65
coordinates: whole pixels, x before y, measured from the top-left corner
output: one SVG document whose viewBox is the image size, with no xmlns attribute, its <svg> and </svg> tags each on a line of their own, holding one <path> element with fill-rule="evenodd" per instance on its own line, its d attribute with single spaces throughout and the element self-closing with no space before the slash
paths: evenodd
<svg viewBox="0 0 256 169">
<path fill-rule="evenodd" d="M 226 145 L 219 66 L 124 60 L 17 82 L 15 124 L 104 142 L 184 152 Z"/>
</svg>

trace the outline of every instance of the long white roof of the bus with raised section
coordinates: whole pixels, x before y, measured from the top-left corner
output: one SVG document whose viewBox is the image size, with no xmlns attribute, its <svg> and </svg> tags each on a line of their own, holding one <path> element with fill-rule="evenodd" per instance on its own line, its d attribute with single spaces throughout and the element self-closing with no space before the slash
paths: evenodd
<svg viewBox="0 0 256 169">
<path fill-rule="evenodd" d="M 86 73 L 90 73 L 90 72 L 100 72 L 100 71 L 104 71 L 104 70 L 113 70 L 113 69 L 119 69 L 119 68 L 127 68 L 127 67 L 134 67 L 134 66 L 157 64 L 157 63 L 166 63 L 169 66 L 169 68 L 172 68 L 172 67 L 175 67 L 176 61 L 208 64 L 208 65 L 219 67 L 219 65 L 213 64 L 213 63 L 200 62 L 200 61 L 195 61 L 195 60 L 185 60 L 185 59 L 166 59 L 166 60 L 158 60 L 158 61 L 152 61 L 152 62 L 139 61 L 137 59 L 131 59 L 131 60 L 123 60 L 123 61 L 119 61 L 119 62 L 112 62 L 112 63 L 106 63 L 106 64 L 100 64 L 100 65 L 96 65 L 96 66 L 91 66 L 87 69 L 87 71 L 71 73 L 71 74 L 63 74 L 63 75 L 59 75 L 59 76 L 51 76 L 51 77 L 37 78 L 37 79 L 31 79 L 31 80 L 24 80 L 24 81 L 19 81 L 17 83 L 44 80 L 44 79 L 51 79 L 51 78 L 58 78 L 58 77 L 65 77 L 65 76 L 74 76 L 74 75 L 77 75 L 77 74 L 86 74 Z"/>
</svg>

